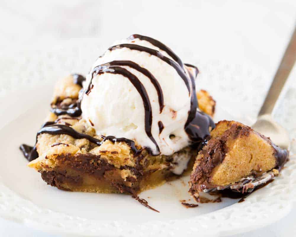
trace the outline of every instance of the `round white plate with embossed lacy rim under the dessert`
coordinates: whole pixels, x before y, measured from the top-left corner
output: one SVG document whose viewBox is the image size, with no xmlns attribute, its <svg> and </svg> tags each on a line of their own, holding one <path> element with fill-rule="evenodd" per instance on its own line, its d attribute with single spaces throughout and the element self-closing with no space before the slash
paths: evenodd
<svg viewBox="0 0 296 237">
<path fill-rule="evenodd" d="M 55 49 L 23 50 L 16 58 L 5 54 L 0 70 L 0 216 L 49 233 L 69 236 L 227 236 L 271 224 L 284 217 L 296 201 L 296 142 L 290 161 L 279 177 L 244 202 L 223 198 L 221 203 L 186 208 L 194 203 L 187 193 L 189 177 L 140 193 L 160 213 L 145 208 L 131 196 L 66 192 L 46 185 L 28 168 L 18 149 L 34 144 L 36 132 L 48 113 L 54 81 L 70 73 L 87 72 L 104 49 L 94 49 L 98 39 L 77 39 Z M 176 46 L 178 47 L 178 46 Z M 185 52 L 186 61 L 200 69 L 197 89 L 206 89 L 217 101 L 215 121 L 255 122 L 270 76 L 248 63 L 226 63 Z M 198 57 L 198 58 L 197 58 Z M 200 60 L 202 59 L 202 60 Z M 11 73 L 18 68 L 17 75 Z M 5 69 L 5 70 L 4 70 Z M 262 95 L 262 97 L 261 97 Z M 276 118 L 293 130 L 295 90 L 287 93 Z M 237 99 L 234 99 L 237 98 Z M 283 116 L 287 115 L 287 116 Z M 294 134 L 294 135 L 293 135 Z M 189 200 L 191 199 L 191 200 Z"/>
</svg>

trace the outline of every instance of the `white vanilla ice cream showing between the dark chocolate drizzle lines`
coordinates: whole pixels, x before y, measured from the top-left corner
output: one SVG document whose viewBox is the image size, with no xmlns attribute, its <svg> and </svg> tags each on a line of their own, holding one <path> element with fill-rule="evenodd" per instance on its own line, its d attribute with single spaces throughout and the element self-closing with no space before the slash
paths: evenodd
<svg viewBox="0 0 296 237">
<path fill-rule="evenodd" d="M 155 49 L 173 60 L 167 52 L 146 40 L 125 39 L 113 45 L 118 44 L 136 44 Z M 122 60 L 132 61 L 147 69 L 161 87 L 164 107 L 160 112 L 159 95 L 151 80 L 134 68 L 120 66 L 132 73 L 147 92 L 152 112 L 150 118 L 152 138 L 147 134 L 147 123 L 149 124 L 147 110 L 149 108 L 145 106 L 143 97 L 133 83 L 119 73 L 99 73 L 94 74 L 92 78 L 92 72 L 97 66 Z M 185 65 L 183 67 L 188 77 L 190 71 L 195 70 Z M 149 148 L 154 155 L 159 153 L 171 155 L 190 144 L 184 125 L 190 110 L 192 91 L 189 93 L 176 69 L 161 58 L 127 47 L 107 50 L 92 66 L 84 89 L 88 88 L 90 81 L 93 86 L 89 93 L 83 95 L 81 110 L 83 119 L 94 127 L 96 134 L 134 140 L 143 148 Z M 190 88 L 192 89 L 191 84 Z"/>
</svg>

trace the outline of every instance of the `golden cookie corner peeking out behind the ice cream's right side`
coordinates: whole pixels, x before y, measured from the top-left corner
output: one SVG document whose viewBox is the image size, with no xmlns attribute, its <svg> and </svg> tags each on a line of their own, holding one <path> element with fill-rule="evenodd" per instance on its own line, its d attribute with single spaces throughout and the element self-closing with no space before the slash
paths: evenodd
<svg viewBox="0 0 296 237">
<path fill-rule="evenodd" d="M 213 97 L 205 90 L 199 90 L 196 92 L 196 96 L 200 110 L 213 117 L 216 106 L 216 101 Z"/>
</svg>

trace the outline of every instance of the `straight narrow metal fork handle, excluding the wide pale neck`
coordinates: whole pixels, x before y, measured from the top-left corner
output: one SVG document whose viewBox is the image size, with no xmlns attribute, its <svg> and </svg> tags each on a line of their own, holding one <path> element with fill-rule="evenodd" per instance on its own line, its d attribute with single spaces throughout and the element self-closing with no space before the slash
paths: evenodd
<svg viewBox="0 0 296 237">
<path fill-rule="evenodd" d="M 258 116 L 264 114 L 271 114 L 274 105 L 281 93 L 281 90 L 284 87 L 284 84 L 289 76 L 290 71 L 293 68 L 296 59 L 296 28 L 294 29 L 293 35 L 290 39 L 289 45 L 286 49 L 286 52 L 281 60 L 281 64 L 279 65 L 278 70 L 276 71 L 276 75 L 274 76 L 274 80 L 269 88 L 268 94 L 265 98 L 265 101 L 260 109 Z"/>
</svg>

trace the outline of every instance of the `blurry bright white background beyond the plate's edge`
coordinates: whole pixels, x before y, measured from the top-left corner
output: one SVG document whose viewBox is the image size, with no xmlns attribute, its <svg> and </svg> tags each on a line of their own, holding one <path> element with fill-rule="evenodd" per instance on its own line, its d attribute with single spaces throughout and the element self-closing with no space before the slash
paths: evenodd
<svg viewBox="0 0 296 237">
<path fill-rule="evenodd" d="M 96 38 L 94 49 L 107 48 L 117 39 L 138 33 L 160 39 L 176 49 L 183 61 L 190 62 L 190 55 L 197 54 L 200 60 L 243 62 L 262 68 L 272 79 L 295 23 L 296 2 L 292 0 L 1 0 L 0 64 L 11 57 L 17 61 L 23 50 L 48 51 L 83 38 Z M 0 69 L 1 81 L 16 73 Z M 295 81 L 290 78 L 289 86 L 295 87 Z M 296 208 L 284 220 L 240 236 L 295 236 L 295 218 Z M 0 236 L 50 235 L 0 219 Z"/>
</svg>

